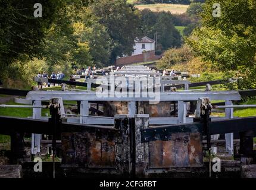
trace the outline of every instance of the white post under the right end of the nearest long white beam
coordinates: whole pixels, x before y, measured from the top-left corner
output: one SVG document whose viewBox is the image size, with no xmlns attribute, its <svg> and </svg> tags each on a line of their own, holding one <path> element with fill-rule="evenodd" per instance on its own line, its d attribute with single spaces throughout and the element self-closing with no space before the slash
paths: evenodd
<svg viewBox="0 0 256 190">
<path fill-rule="evenodd" d="M 233 105 L 233 102 L 231 100 L 226 100 L 225 102 L 226 106 Z M 233 119 L 233 108 L 226 108 L 225 114 L 226 119 Z M 234 145 L 233 145 L 233 133 L 225 134 L 225 140 L 226 140 L 226 151 L 229 153 L 229 155 L 233 154 Z"/>
</svg>

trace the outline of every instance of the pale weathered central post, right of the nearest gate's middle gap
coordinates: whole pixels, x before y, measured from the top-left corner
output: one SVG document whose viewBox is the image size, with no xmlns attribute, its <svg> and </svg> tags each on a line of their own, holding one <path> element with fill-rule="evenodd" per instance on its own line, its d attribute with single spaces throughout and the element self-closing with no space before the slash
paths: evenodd
<svg viewBox="0 0 256 190">
<path fill-rule="evenodd" d="M 135 115 L 135 144 L 136 144 L 136 178 L 145 177 L 148 164 L 148 143 L 141 142 L 141 130 L 149 128 L 149 115 Z"/>
</svg>

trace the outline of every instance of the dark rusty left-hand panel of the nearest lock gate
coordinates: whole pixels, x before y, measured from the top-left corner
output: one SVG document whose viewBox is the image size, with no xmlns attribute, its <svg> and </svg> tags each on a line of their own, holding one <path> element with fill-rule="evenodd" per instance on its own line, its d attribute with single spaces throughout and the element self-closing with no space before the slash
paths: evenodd
<svg viewBox="0 0 256 190">
<path fill-rule="evenodd" d="M 63 133 L 62 163 L 90 168 L 115 167 L 115 141 L 108 134 L 96 139 L 95 133 Z"/>
</svg>

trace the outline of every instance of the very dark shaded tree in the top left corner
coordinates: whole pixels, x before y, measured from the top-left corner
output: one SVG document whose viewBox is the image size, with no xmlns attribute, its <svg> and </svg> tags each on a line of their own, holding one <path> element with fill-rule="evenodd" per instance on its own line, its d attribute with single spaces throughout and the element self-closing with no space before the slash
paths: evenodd
<svg viewBox="0 0 256 190">
<path fill-rule="evenodd" d="M 42 4 L 43 17 L 35 18 L 34 4 Z M 23 55 L 40 56 L 43 37 L 57 18 L 63 1 L 0 1 L 0 78 L 8 65 Z"/>
</svg>

